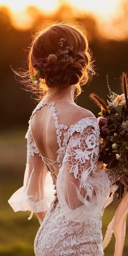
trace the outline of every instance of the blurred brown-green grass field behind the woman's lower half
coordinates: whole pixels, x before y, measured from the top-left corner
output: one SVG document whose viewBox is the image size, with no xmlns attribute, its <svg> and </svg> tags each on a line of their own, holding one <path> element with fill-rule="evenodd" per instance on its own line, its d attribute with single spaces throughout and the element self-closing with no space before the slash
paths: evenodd
<svg viewBox="0 0 128 256">
<path fill-rule="evenodd" d="M 26 159 L 25 131 L 5 131 L 0 136 L 1 178 L 0 178 L 0 256 L 34 256 L 33 243 L 39 228 L 34 215 L 28 221 L 30 212 L 14 213 L 8 199 L 23 184 Z M 103 216 L 103 235 L 119 204 L 118 200 L 108 206 Z M 127 223 L 128 229 L 128 223 Z M 114 237 L 105 249 L 105 256 L 113 256 Z M 123 256 L 128 255 L 128 233 L 126 231 Z"/>
</svg>

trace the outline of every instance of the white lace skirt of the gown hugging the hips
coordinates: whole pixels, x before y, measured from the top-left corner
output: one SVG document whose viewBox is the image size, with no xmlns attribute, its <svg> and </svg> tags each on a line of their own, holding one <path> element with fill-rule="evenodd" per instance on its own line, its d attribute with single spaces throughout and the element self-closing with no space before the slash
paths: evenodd
<svg viewBox="0 0 128 256">
<path fill-rule="evenodd" d="M 35 256 L 103 256 L 101 214 L 84 222 L 66 221 L 59 203 L 49 208 L 36 234 Z"/>
</svg>

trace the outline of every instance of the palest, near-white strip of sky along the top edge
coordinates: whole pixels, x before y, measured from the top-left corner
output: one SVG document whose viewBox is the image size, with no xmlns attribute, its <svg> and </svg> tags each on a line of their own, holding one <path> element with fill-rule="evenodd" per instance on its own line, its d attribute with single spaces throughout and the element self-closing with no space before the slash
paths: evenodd
<svg viewBox="0 0 128 256">
<path fill-rule="evenodd" d="M 49 13 L 54 12 L 61 4 L 69 4 L 78 10 L 110 18 L 115 15 L 120 2 L 121 0 L 0 0 L 0 5 L 6 5 L 14 12 L 22 12 L 31 5 Z"/>
</svg>

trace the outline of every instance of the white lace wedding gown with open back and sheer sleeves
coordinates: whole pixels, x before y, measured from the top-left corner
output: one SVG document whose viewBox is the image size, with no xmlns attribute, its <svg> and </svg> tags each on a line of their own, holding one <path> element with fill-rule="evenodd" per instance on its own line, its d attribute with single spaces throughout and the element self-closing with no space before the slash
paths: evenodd
<svg viewBox="0 0 128 256">
<path fill-rule="evenodd" d="M 31 118 L 43 107 L 53 112 L 59 146 L 55 161 L 41 155 L 31 133 Z M 68 127 L 59 123 L 55 103 L 42 99 L 31 114 L 25 138 L 28 144 L 23 187 L 8 202 L 15 212 L 47 212 L 35 237 L 35 255 L 104 255 L 101 217 L 110 185 L 119 177 L 98 169 L 97 118 L 84 117 Z M 58 168 L 53 168 L 56 163 Z"/>
</svg>

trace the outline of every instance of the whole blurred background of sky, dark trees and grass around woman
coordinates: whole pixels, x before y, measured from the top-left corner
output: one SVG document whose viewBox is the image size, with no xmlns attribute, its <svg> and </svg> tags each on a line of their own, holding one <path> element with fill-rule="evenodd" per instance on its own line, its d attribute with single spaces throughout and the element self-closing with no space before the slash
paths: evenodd
<svg viewBox="0 0 128 256">
<path fill-rule="evenodd" d="M 127 72 L 128 55 L 127 0 L 0 0 L 1 30 L 1 179 L 0 179 L 0 255 L 32 256 L 33 243 L 39 228 L 29 212 L 14 213 L 8 199 L 23 184 L 26 162 L 25 132 L 37 102 L 15 80 L 14 69 L 27 68 L 29 46 L 40 29 L 55 21 L 82 23 L 87 31 L 89 48 L 95 60 L 94 76 L 77 104 L 91 110 L 98 117 L 98 107 L 89 99 L 91 92 L 106 99 L 106 74 L 113 91 L 120 93 L 120 75 Z M 115 199 L 103 216 L 103 235 L 119 204 Z M 128 228 L 128 225 L 127 225 Z M 128 251 L 126 232 L 123 256 Z M 105 249 L 106 256 L 114 252 L 114 237 Z"/>
</svg>

